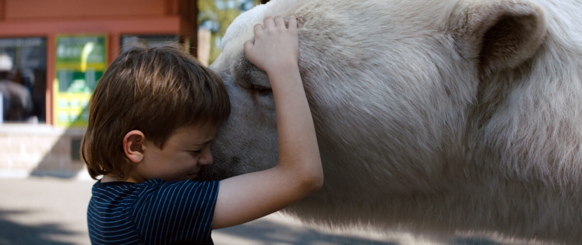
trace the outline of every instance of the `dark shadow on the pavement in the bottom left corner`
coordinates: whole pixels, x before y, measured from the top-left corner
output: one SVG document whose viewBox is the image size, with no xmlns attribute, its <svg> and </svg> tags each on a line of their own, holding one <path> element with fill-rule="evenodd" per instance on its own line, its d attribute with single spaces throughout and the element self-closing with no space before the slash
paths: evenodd
<svg viewBox="0 0 582 245">
<path fill-rule="evenodd" d="M 54 236 L 76 235 L 75 232 L 63 229 L 58 223 L 22 225 L 6 218 L 6 216 L 21 215 L 27 212 L 0 210 L 0 245 L 74 245 L 74 243 L 54 239 Z"/>
</svg>

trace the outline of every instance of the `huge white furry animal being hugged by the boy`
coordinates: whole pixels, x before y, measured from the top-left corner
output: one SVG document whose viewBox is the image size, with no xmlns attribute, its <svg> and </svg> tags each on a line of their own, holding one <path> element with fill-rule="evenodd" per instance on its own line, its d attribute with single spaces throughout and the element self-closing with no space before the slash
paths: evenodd
<svg viewBox="0 0 582 245">
<path fill-rule="evenodd" d="M 266 169 L 274 100 L 243 42 L 299 22 L 300 73 L 325 183 L 306 222 L 446 237 L 582 241 L 580 0 L 272 0 L 243 13 L 210 68 L 232 113 L 201 179 Z"/>
</svg>

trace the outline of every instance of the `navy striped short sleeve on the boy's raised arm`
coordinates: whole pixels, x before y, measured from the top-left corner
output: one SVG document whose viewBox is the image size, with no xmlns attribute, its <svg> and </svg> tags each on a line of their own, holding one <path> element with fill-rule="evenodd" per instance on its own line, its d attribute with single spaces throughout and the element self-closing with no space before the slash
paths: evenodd
<svg viewBox="0 0 582 245">
<path fill-rule="evenodd" d="M 211 244 L 218 184 L 187 180 L 146 187 L 134 203 L 137 232 L 148 244 Z"/>
</svg>

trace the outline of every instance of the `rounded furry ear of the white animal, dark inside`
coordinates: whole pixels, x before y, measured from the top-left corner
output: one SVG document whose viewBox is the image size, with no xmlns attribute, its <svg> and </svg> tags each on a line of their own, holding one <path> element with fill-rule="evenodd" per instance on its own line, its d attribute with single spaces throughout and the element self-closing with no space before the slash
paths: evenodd
<svg viewBox="0 0 582 245">
<path fill-rule="evenodd" d="M 539 6 L 523 0 L 471 2 L 460 31 L 482 72 L 514 68 L 540 48 L 546 22 Z"/>
</svg>

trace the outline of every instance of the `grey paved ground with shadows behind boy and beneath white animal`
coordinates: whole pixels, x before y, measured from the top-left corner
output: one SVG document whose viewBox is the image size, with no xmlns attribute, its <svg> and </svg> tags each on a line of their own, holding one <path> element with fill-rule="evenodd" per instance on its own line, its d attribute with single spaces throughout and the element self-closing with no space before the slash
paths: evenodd
<svg viewBox="0 0 582 245">
<path fill-rule="evenodd" d="M 89 245 L 86 208 L 93 183 L 55 177 L 0 178 L 0 245 Z M 409 235 L 308 228 L 279 214 L 214 230 L 212 237 L 217 245 L 442 245 Z M 496 245 L 474 239 L 453 244 Z"/>
</svg>

